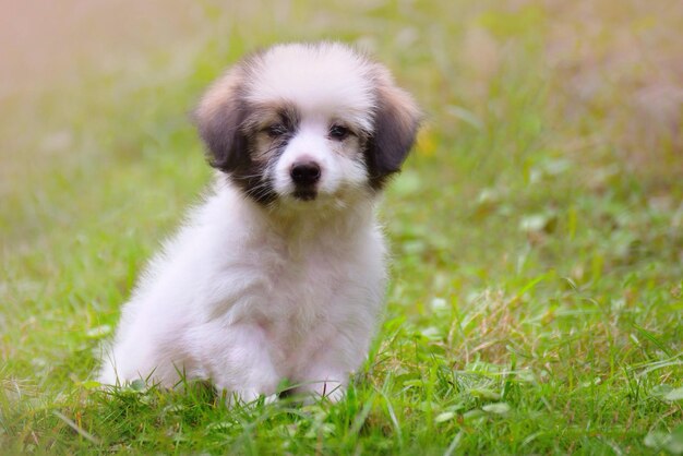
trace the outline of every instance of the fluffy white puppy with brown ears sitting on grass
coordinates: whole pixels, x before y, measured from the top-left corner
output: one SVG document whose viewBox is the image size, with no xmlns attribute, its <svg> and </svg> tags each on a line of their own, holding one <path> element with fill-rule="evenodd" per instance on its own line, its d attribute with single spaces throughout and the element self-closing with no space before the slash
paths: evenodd
<svg viewBox="0 0 683 456">
<path fill-rule="evenodd" d="M 100 382 L 185 375 L 251 401 L 287 379 L 339 399 L 385 291 L 376 200 L 419 117 L 384 67 L 340 44 L 237 63 L 195 111 L 213 191 L 124 305 Z"/>
</svg>

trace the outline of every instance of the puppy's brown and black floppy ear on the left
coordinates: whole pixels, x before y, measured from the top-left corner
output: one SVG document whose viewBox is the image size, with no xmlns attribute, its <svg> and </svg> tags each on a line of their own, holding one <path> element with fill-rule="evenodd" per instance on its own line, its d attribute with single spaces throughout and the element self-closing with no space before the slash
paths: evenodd
<svg viewBox="0 0 683 456">
<path fill-rule="evenodd" d="M 247 117 L 241 97 L 242 75 L 229 71 L 204 94 L 193 118 L 207 149 L 208 163 L 224 172 L 233 171 L 249 159 L 241 124 Z"/>
</svg>

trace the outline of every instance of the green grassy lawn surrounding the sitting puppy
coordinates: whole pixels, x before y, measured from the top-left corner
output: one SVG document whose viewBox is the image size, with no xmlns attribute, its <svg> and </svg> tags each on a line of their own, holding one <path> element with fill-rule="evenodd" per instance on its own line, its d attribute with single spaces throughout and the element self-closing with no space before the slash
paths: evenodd
<svg viewBox="0 0 683 456">
<path fill-rule="evenodd" d="M 329 3 L 206 7 L 192 52 L 3 100 L 0 453 L 683 453 L 681 104 L 636 97 L 680 61 L 681 7 Z M 243 52 L 315 38 L 371 47 L 428 113 L 347 397 L 98 389 L 97 347 L 209 178 L 187 112 Z"/>
</svg>

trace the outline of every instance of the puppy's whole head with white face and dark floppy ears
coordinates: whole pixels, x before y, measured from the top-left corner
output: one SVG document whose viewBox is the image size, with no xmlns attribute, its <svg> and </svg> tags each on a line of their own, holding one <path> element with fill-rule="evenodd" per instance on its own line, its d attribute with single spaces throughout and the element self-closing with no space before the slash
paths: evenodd
<svg viewBox="0 0 683 456">
<path fill-rule="evenodd" d="M 279 45 L 219 79 L 195 112 L 209 163 L 261 204 L 381 190 L 419 123 L 379 63 L 340 44 Z"/>
</svg>

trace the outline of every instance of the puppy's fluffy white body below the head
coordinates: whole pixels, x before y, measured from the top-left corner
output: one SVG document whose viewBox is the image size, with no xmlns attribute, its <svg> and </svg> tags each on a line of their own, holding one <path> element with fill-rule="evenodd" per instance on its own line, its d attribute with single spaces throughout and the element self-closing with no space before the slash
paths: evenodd
<svg viewBox="0 0 683 456">
<path fill-rule="evenodd" d="M 217 184 L 124 307 L 100 382 L 172 386 L 184 371 L 244 400 L 275 393 L 283 379 L 319 394 L 346 385 L 384 293 L 373 205 L 272 217 Z"/>
</svg>

